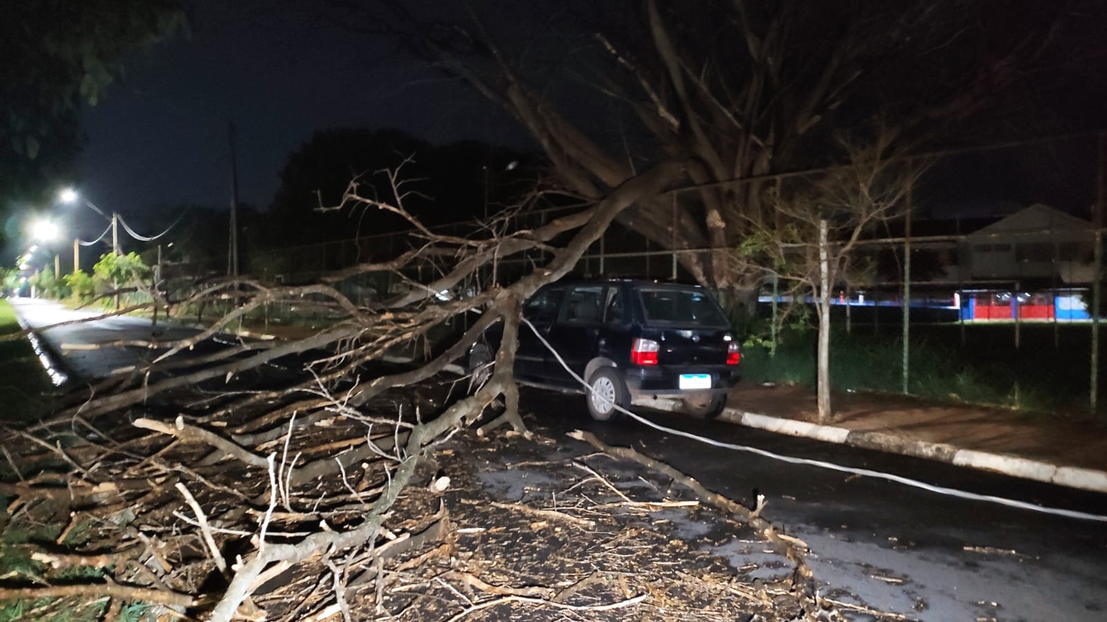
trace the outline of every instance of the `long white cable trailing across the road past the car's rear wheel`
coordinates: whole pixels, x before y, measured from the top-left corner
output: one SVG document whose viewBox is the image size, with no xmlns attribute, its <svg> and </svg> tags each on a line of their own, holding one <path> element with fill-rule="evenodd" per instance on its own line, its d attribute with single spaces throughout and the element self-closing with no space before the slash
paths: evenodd
<svg viewBox="0 0 1107 622">
<path fill-rule="evenodd" d="M 538 331 L 538 329 L 536 329 L 535 325 L 531 324 L 530 321 L 527 320 L 526 318 L 523 318 L 521 320 L 523 320 L 524 323 L 526 323 L 528 326 L 530 326 L 530 330 L 534 331 L 534 333 L 538 338 L 538 340 L 542 342 L 542 345 L 545 345 L 554 354 L 554 356 L 557 359 L 558 363 L 560 363 L 561 366 L 565 367 L 565 371 L 569 372 L 569 375 L 571 375 L 573 379 L 576 379 L 577 382 L 579 382 L 584 387 L 586 395 L 589 392 L 591 392 L 592 387 L 589 386 L 588 383 L 584 382 L 584 380 L 582 377 L 578 376 L 572 370 L 569 369 L 569 365 L 566 364 L 565 359 L 561 357 L 561 354 L 558 353 L 558 351 L 555 350 L 554 346 L 550 345 L 550 343 L 548 341 L 546 341 L 546 338 L 542 336 L 542 334 Z M 992 504 L 1000 504 L 1002 506 L 1007 506 L 1007 507 L 1013 507 L 1013 508 L 1020 508 L 1020 509 L 1024 509 L 1024 510 L 1031 510 L 1031 511 L 1036 511 L 1036 512 L 1049 514 L 1049 515 L 1054 515 L 1054 516 L 1064 516 L 1066 518 L 1076 518 L 1076 519 L 1082 519 L 1082 520 L 1095 520 L 1095 521 L 1099 521 L 1099 522 L 1107 522 L 1107 516 L 1103 516 L 1103 515 L 1090 514 L 1090 512 L 1083 512 L 1083 511 L 1078 511 L 1078 510 L 1066 510 L 1066 509 L 1063 509 L 1063 508 L 1049 508 L 1049 507 L 1045 507 L 1045 506 L 1038 506 L 1036 504 L 1031 504 L 1031 502 L 1027 502 L 1027 501 L 1018 501 L 1018 500 L 1015 500 L 1015 499 L 1005 499 L 1003 497 L 995 497 L 993 495 L 979 495 L 976 493 L 966 493 L 964 490 L 958 490 L 955 488 L 946 488 L 944 486 L 935 486 L 933 484 L 927 484 L 925 481 L 919 481 L 918 479 L 911 479 L 910 477 L 902 477 L 902 476 L 893 475 L 893 474 L 890 474 L 890 473 L 882 473 L 882 471 L 879 471 L 879 470 L 872 470 L 872 469 L 868 469 L 868 468 L 857 468 L 857 467 L 848 467 L 848 466 L 842 466 L 842 465 L 836 465 L 834 463 L 828 463 L 828 462 L 825 462 L 825 460 L 813 460 L 813 459 L 809 459 L 809 458 L 795 458 L 795 457 L 792 457 L 792 456 L 782 456 L 780 454 L 774 454 L 773 452 L 766 452 L 765 449 L 758 449 L 757 447 L 749 447 L 749 446 L 746 446 L 746 445 L 736 445 L 734 443 L 724 443 L 722 440 L 715 440 L 714 438 L 707 438 L 707 437 L 704 437 L 704 436 L 699 436 L 699 435 L 692 434 L 690 432 L 684 432 L 684 431 L 681 431 L 681 429 L 674 429 L 674 428 L 671 428 L 671 427 L 666 427 L 666 426 L 653 423 L 650 419 L 646 419 L 646 418 L 644 418 L 644 417 L 642 417 L 640 415 L 637 415 L 637 414 L 628 411 L 627 408 L 623 408 L 622 406 L 620 406 L 618 404 L 615 404 L 615 408 L 619 412 L 621 412 L 621 413 L 623 413 L 625 415 L 629 415 L 634 421 L 643 423 L 643 424 L 645 424 L 645 425 L 648 425 L 648 426 L 650 426 L 650 427 L 652 427 L 654 429 L 658 429 L 658 431 L 661 431 L 661 432 L 665 432 L 665 433 L 669 433 L 669 434 L 674 434 L 676 436 L 683 436 L 685 438 L 691 438 L 693 440 L 699 440 L 700 443 L 705 443 L 707 445 L 713 445 L 715 447 L 722 447 L 724 449 L 734 449 L 734 450 L 737 450 L 737 452 L 748 452 L 751 454 L 756 454 L 758 456 L 764 456 L 766 458 L 773 458 L 775 460 L 780 460 L 780 462 L 785 462 L 785 463 L 789 463 L 789 464 L 794 464 L 794 465 L 814 466 L 814 467 L 826 468 L 826 469 L 830 469 L 830 470 L 837 470 L 837 471 L 840 471 L 840 473 L 848 473 L 848 474 L 851 474 L 851 475 L 860 475 L 860 476 L 863 476 L 863 477 L 875 477 L 875 478 L 878 478 L 878 479 L 886 479 L 888 481 L 894 481 L 897 484 L 903 484 L 904 486 L 911 486 L 911 487 L 914 487 L 914 488 L 921 488 L 923 490 L 929 490 L 931 493 L 938 493 L 939 495 L 948 495 L 948 496 L 958 497 L 958 498 L 961 498 L 961 499 L 969 499 L 969 500 L 973 500 L 973 501 L 987 501 L 987 502 L 992 502 Z"/>
</svg>

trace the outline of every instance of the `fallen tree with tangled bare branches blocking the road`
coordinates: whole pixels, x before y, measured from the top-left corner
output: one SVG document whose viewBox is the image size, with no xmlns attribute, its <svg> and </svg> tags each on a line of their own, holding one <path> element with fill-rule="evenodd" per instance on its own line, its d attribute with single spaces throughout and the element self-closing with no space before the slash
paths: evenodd
<svg viewBox="0 0 1107 622">
<path fill-rule="evenodd" d="M 144 602 L 176 616 L 218 621 L 299 620 L 304 611 L 314 611 L 312 619 L 318 620 L 350 620 L 355 612 L 348 597 L 375 585 L 376 607 L 382 607 L 385 561 L 431 545 L 448 548 L 456 538 L 442 500 L 451 477 L 436 467 L 436 450 L 478 422 L 484 435 L 507 425 L 508 434 L 530 437 L 511 375 L 518 331 L 528 330 L 520 322 L 521 302 L 569 273 L 621 211 L 663 189 L 680 170 L 679 163 L 668 163 L 644 172 L 594 205 L 536 229 L 510 230 L 505 220 L 487 228 L 487 238 L 469 239 L 417 226 L 414 250 L 318 282 L 277 287 L 227 280 L 204 283 L 178 300 L 157 300 L 177 308 L 200 300 L 232 304 L 211 326 L 187 339 L 117 343 L 149 355 L 74 392 L 70 404 L 49 419 L 25 431 L 8 431 L 9 438 L 25 440 L 4 445 L 10 474 L 0 493 L 10 499 L 9 525 L 21 516 L 39 521 L 62 517 L 60 535 L 51 532 L 52 543 L 31 561 L 59 571 L 83 568 L 90 578 L 54 584 L 20 576 L 0 583 L 0 598 L 110 599 L 108 615 L 123 603 Z M 402 194 L 396 194 L 401 200 L 384 204 L 360 197 L 351 187 L 345 203 L 406 216 Z M 514 280 L 499 282 L 482 272 L 535 249 L 547 259 Z M 399 271 L 420 261 L 433 262 L 438 276 L 387 299 L 358 304 L 335 287 L 343 278 Z M 289 298 L 325 309 L 330 324 L 287 341 L 241 340 L 210 352 L 195 351 L 210 349 L 208 338 L 251 309 Z M 432 344 L 431 332 L 458 317 L 475 319 Z M 464 360 L 469 345 L 497 322 L 503 323 L 503 339 L 490 373 L 442 381 L 441 372 Z M 380 366 L 397 351 L 418 355 L 399 369 Z M 292 367 L 292 380 L 259 387 L 248 377 L 263 376 L 260 370 L 273 362 Z M 422 387 L 434 382 L 438 393 L 421 396 Z M 503 410 L 493 410 L 495 417 L 483 416 L 493 405 Z M 597 446 L 612 456 L 640 458 Z M 586 470 L 586 480 L 606 481 L 594 469 Z M 695 495 L 706 493 L 672 469 L 661 473 L 683 477 Z M 634 501 L 610 483 L 607 489 L 619 496 L 614 506 L 633 511 L 690 504 Z M 759 508 L 751 512 L 714 494 L 705 500 L 758 529 L 795 564 L 792 587 L 785 590 L 788 598 L 815 598 L 800 543 L 758 519 Z M 492 506 L 521 512 L 532 529 L 550 521 L 573 529 L 598 523 L 557 509 Z M 437 550 L 403 563 L 410 568 L 438 556 Z M 320 577 L 310 590 L 294 598 L 272 595 L 290 580 L 300 585 L 312 576 L 304 574 L 304 568 Z M 624 581 L 608 580 L 622 585 L 623 598 L 569 604 L 566 599 L 576 591 L 496 584 L 453 566 L 437 581 L 489 594 L 490 600 L 479 602 L 462 599 L 465 609 L 457 618 L 499 604 L 609 611 L 651 598 L 632 593 Z M 761 608 L 774 603 L 764 594 L 746 595 Z M 789 611 L 817 609 L 793 605 Z"/>
</svg>

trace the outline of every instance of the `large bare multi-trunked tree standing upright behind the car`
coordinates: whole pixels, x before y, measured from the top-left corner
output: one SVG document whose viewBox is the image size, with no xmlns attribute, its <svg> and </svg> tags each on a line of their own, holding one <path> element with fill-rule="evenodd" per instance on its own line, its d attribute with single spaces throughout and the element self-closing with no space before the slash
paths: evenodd
<svg viewBox="0 0 1107 622">
<path fill-rule="evenodd" d="M 649 164 L 683 162 L 694 194 L 680 218 L 666 196 L 619 219 L 679 249 L 734 248 L 770 222 L 763 180 L 848 162 L 839 129 L 871 135 L 879 118 L 911 144 L 958 124 L 969 137 L 963 124 L 1020 101 L 1012 90 L 1033 82 L 1030 70 L 1088 30 L 1082 10 L 1101 13 L 1018 0 L 570 2 L 530 6 L 536 24 L 558 29 L 536 42 L 496 3 L 445 22 L 400 2 L 330 7 L 354 28 L 397 34 L 510 112 L 568 193 L 600 197 Z M 610 123 L 597 121 L 604 111 Z M 728 257 L 681 261 L 705 284 L 752 294 L 762 272 L 735 271 Z"/>
</svg>

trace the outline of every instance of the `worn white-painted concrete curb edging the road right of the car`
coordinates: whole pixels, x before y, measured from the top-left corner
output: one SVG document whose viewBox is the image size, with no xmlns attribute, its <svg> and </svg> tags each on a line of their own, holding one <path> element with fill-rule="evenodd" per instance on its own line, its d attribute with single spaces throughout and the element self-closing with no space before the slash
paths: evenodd
<svg viewBox="0 0 1107 622">
<path fill-rule="evenodd" d="M 1103 470 L 1055 465 L 1011 454 L 993 454 L 976 449 L 964 449 L 945 443 L 914 440 L 886 432 L 850 431 L 845 427 L 818 425 L 784 417 L 747 413 L 736 408 L 726 408 L 720 415 L 718 419 L 778 434 L 939 460 L 955 466 L 1002 473 L 1012 477 L 1033 479 L 1068 488 L 1107 493 L 1107 471 Z"/>
</svg>

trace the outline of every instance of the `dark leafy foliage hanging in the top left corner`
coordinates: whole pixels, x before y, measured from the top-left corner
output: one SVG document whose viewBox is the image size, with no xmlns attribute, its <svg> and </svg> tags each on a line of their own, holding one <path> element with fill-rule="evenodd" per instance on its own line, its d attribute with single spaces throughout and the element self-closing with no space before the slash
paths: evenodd
<svg viewBox="0 0 1107 622">
<path fill-rule="evenodd" d="M 0 27 L 0 221 L 13 200 L 70 177 L 81 105 L 95 105 L 135 50 L 184 27 L 178 0 L 4 4 Z M 11 231 L 8 231 L 11 234 Z M 0 231 L 0 242 L 4 231 Z"/>
</svg>

